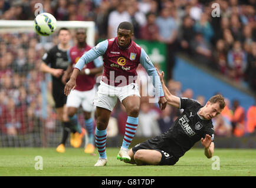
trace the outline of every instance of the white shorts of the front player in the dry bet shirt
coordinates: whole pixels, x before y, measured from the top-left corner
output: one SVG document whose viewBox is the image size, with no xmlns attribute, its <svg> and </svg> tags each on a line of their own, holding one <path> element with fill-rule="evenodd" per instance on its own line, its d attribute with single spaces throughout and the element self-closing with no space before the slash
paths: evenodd
<svg viewBox="0 0 256 188">
<path fill-rule="evenodd" d="M 130 83 L 122 87 L 107 85 L 102 80 L 100 81 L 99 90 L 94 99 L 94 105 L 112 111 L 116 105 L 117 98 L 120 102 L 127 96 L 137 95 L 140 97 L 139 87 L 137 83 Z"/>
</svg>

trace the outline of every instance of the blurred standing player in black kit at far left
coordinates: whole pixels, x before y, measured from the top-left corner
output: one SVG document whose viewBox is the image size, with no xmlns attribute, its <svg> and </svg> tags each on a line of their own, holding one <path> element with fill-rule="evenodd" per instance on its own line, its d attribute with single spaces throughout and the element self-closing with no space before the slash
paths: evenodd
<svg viewBox="0 0 256 188">
<path fill-rule="evenodd" d="M 73 122 L 68 118 L 67 107 L 65 106 L 67 96 L 63 93 L 65 85 L 61 82 L 63 72 L 69 65 L 67 50 L 70 48 L 70 45 L 68 44 L 70 41 L 70 31 L 67 28 L 61 28 L 58 31 L 58 40 L 60 43 L 51 48 L 50 51 L 45 53 L 42 57 L 43 62 L 40 65 L 40 70 L 52 75 L 52 96 L 55 102 L 57 119 L 60 120 L 63 125 L 63 137 L 56 150 L 57 152 L 64 153 L 65 142 L 67 141 L 69 131 L 76 133 L 80 131 L 80 129 L 77 129 Z M 80 142 L 80 139 L 79 137 L 76 137 L 71 139 L 71 142 Z"/>
</svg>

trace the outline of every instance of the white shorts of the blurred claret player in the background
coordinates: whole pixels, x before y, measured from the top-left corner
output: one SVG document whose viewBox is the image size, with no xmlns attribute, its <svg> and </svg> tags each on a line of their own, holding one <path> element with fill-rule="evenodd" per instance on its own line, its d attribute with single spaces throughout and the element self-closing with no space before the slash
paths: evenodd
<svg viewBox="0 0 256 188">
<path fill-rule="evenodd" d="M 91 90 L 80 91 L 71 90 L 67 97 L 67 107 L 79 108 L 81 105 L 86 112 L 92 112 L 94 109 L 93 100 L 96 95 L 96 86 Z"/>
</svg>

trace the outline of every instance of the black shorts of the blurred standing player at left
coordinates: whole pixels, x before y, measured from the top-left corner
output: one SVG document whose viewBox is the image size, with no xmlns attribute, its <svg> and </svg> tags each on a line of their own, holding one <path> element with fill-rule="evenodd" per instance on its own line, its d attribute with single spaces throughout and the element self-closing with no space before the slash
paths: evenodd
<svg viewBox="0 0 256 188">
<path fill-rule="evenodd" d="M 67 96 L 64 94 L 64 85 L 52 85 L 52 97 L 55 102 L 55 108 L 61 108 L 67 102 Z"/>
</svg>

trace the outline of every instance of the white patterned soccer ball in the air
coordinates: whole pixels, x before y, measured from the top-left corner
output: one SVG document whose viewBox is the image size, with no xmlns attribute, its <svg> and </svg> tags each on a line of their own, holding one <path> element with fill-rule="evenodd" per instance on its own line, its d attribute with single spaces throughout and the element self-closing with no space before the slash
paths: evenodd
<svg viewBox="0 0 256 188">
<path fill-rule="evenodd" d="M 50 36 L 56 29 L 56 19 L 51 14 L 44 12 L 34 19 L 34 29 L 38 35 Z"/>
</svg>

